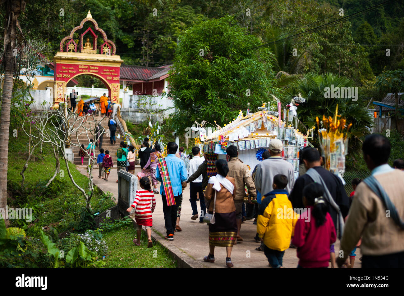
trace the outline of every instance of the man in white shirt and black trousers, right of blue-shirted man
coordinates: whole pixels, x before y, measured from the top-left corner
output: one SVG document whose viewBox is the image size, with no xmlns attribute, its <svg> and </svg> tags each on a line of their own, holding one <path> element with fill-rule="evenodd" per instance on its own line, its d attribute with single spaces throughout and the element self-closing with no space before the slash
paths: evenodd
<svg viewBox="0 0 404 296">
<path fill-rule="evenodd" d="M 189 160 L 189 172 L 188 172 L 188 178 L 198 170 L 198 167 L 202 164 L 204 159 L 201 159 L 201 149 L 199 147 L 193 147 L 192 148 L 192 157 L 191 160 Z M 204 223 L 203 217 L 206 214 L 206 205 L 205 205 L 205 197 L 203 195 L 203 190 L 202 190 L 202 175 L 200 175 L 198 178 L 196 178 L 193 182 L 189 183 L 189 195 L 190 199 L 189 201 L 191 202 L 191 208 L 192 208 L 192 220 L 198 219 L 198 207 L 196 206 L 196 195 L 199 193 L 199 200 L 200 200 L 200 206 L 201 206 L 201 212 L 199 216 L 199 223 Z M 202 214 L 203 212 L 203 214 Z"/>
</svg>

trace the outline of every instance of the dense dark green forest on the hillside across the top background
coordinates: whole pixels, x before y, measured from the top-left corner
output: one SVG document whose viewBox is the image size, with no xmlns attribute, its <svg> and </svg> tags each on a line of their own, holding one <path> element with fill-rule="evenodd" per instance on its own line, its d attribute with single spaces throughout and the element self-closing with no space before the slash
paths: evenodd
<svg viewBox="0 0 404 296">
<path fill-rule="evenodd" d="M 383 70 L 404 66 L 403 1 L 163 0 L 163 6 L 145 2 L 149 3 L 30 0 L 19 21 L 25 38 L 50 43 L 49 58 L 90 10 L 129 65 L 172 63 L 179 37 L 187 29 L 208 19 L 233 16 L 246 34 L 259 37 L 275 54 L 276 72 L 332 72 L 366 89 Z M 88 76 L 82 80 L 82 86 L 97 83 Z"/>
</svg>

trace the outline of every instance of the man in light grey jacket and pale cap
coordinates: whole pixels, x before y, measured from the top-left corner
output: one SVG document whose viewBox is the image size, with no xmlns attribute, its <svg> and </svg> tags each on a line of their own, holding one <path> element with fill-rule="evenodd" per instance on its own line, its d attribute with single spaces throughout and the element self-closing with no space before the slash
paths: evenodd
<svg viewBox="0 0 404 296">
<path fill-rule="evenodd" d="M 288 185 L 286 190 L 290 193 L 295 184 L 295 173 L 293 166 L 290 162 L 282 159 L 282 142 L 278 139 L 272 139 L 269 143 L 269 154 L 271 157 L 264 159 L 257 167 L 257 174 L 255 175 L 255 188 L 261 193 L 263 197 L 273 190 L 272 181 L 274 176 L 282 174 L 288 177 Z"/>
</svg>

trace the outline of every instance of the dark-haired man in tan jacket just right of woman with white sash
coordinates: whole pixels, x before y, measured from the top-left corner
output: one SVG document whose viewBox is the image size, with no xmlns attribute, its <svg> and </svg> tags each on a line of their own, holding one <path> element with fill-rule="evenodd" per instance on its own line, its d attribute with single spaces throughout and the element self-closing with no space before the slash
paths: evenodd
<svg viewBox="0 0 404 296">
<path fill-rule="evenodd" d="M 234 198 L 234 205 L 236 206 L 237 240 L 242 241 L 243 239 L 240 236 L 240 229 L 242 222 L 243 199 L 246 196 L 244 188 L 247 186 L 248 195 L 252 196 L 252 199 L 257 199 L 257 191 L 255 190 L 255 184 L 254 181 L 252 181 L 248 166 L 237 157 L 237 147 L 227 147 L 226 153 L 229 155 L 229 174 L 227 176 L 234 178 L 236 183 L 236 197 Z"/>
</svg>

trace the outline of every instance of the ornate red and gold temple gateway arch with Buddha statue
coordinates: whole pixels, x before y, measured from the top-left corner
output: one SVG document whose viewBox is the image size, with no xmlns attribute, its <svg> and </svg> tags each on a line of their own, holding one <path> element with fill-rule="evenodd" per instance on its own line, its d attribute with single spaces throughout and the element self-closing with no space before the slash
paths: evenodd
<svg viewBox="0 0 404 296">
<path fill-rule="evenodd" d="M 88 28 L 81 34 L 76 33 L 84 27 L 85 23 L 89 25 Z M 99 42 L 99 46 L 97 46 L 98 36 L 91 29 L 91 24 L 94 26 L 94 31 L 101 34 L 102 42 Z M 74 40 L 75 33 L 78 37 L 78 44 Z M 111 101 L 119 103 L 120 66 L 123 60 L 115 53 L 114 42 L 107 39 L 107 35 L 98 27 L 88 10 L 87 17 L 81 21 L 80 25 L 75 27 L 69 36 L 62 39 L 60 51 L 53 57 L 55 95 L 51 108 L 59 108 L 59 103 L 65 100 L 67 83 L 74 77 L 84 74 L 98 77 L 107 87 Z"/>
</svg>

